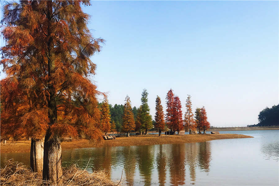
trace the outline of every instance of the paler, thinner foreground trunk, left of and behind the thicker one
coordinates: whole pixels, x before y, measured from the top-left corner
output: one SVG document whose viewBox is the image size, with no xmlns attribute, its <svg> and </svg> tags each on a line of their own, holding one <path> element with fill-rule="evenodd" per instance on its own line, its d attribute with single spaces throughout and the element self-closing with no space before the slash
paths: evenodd
<svg viewBox="0 0 279 186">
<path fill-rule="evenodd" d="M 30 167 L 33 172 L 42 174 L 44 157 L 44 139 L 31 139 Z"/>
</svg>

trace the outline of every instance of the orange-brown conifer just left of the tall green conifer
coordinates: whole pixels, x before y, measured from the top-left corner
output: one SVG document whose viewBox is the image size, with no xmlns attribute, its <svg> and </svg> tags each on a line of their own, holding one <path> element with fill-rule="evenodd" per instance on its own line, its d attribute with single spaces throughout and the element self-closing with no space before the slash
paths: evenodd
<svg viewBox="0 0 279 186">
<path fill-rule="evenodd" d="M 124 114 L 122 119 L 123 119 L 122 131 L 127 132 L 127 137 L 129 137 L 130 132 L 135 129 L 135 120 L 134 120 L 134 114 L 132 112 L 131 100 L 128 95 L 125 98 Z"/>
</svg>

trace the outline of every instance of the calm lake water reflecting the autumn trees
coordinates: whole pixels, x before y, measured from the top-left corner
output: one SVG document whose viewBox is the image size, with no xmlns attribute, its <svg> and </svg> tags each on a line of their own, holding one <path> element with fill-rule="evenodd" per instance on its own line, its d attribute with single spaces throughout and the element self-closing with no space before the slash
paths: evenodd
<svg viewBox="0 0 279 186">
<path fill-rule="evenodd" d="M 279 185 L 279 131 L 223 131 L 254 138 L 62 151 L 63 166 L 107 169 L 128 185 Z M 29 165 L 29 153 L 1 154 Z M 123 179 L 122 178 L 122 179 Z"/>
</svg>

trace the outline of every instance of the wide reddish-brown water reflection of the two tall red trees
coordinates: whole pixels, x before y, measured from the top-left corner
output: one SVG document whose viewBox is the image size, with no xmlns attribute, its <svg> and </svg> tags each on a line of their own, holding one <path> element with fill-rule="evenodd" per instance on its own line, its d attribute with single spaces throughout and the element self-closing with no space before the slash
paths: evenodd
<svg viewBox="0 0 279 186">
<path fill-rule="evenodd" d="M 184 185 L 185 169 L 185 144 L 173 144 L 171 146 L 170 161 L 170 183 L 172 185 Z"/>
</svg>

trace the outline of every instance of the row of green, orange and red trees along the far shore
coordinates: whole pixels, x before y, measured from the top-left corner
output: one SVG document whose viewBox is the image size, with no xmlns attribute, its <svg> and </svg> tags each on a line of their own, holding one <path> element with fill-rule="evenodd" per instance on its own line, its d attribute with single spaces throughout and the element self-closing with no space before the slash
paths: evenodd
<svg viewBox="0 0 279 186">
<path fill-rule="evenodd" d="M 111 118 L 110 124 L 107 123 L 104 127 L 101 126 L 101 128 L 104 128 L 102 131 L 106 133 L 106 126 L 111 126 L 111 131 L 117 131 L 117 133 L 126 132 L 127 136 L 129 136 L 132 131 L 147 135 L 147 131 L 149 129 L 155 128 L 158 130 L 160 136 L 162 131 L 168 130 L 171 132 L 177 131 L 178 133 L 181 130 L 185 130 L 189 131 L 189 134 L 191 134 L 191 131 L 193 130 L 198 130 L 199 134 L 201 131 L 205 134 L 205 131 L 210 127 L 210 123 L 207 121 L 206 109 L 204 107 L 196 108 L 194 116 L 190 95 L 188 95 L 186 100 L 186 112 L 184 114 L 184 118 L 182 115 L 180 99 L 178 96 L 173 94 L 172 89 L 170 89 L 166 95 L 166 114 L 164 114 L 163 111 L 161 98 L 157 96 L 155 100 L 155 120 L 152 120 L 152 116 L 150 115 L 150 108 L 147 103 L 147 90 L 144 89 L 141 95 L 142 104 L 139 108 L 131 107 L 131 100 L 128 95 L 125 98 L 124 105 L 108 105 L 107 100 L 99 103 L 101 110 L 103 107 L 109 108 L 106 113 L 102 114 Z"/>
</svg>

